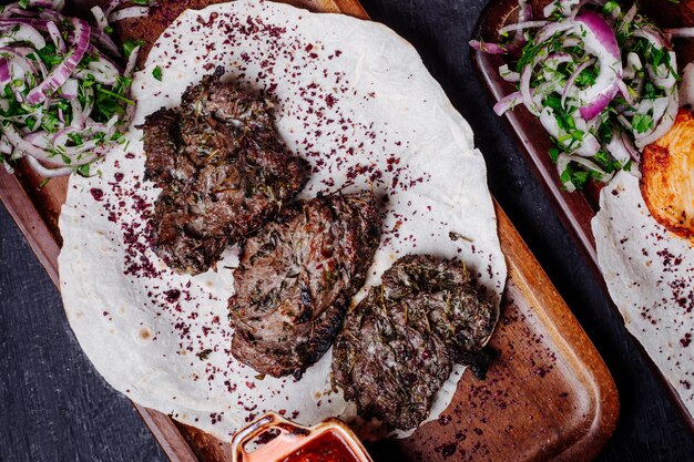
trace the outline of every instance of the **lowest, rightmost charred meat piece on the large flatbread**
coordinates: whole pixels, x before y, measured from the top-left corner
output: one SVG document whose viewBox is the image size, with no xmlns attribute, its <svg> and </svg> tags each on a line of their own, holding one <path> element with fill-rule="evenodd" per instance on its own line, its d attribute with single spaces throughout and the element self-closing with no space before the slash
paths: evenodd
<svg viewBox="0 0 694 462">
<path fill-rule="evenodd" d="M 455 363 L 477 362 L 496 311 L 465 267 L 428 255 L 397 260 L 347 314 L 333 381 L 359 415 L 408 430 L 429 414 Z"/>
</svg>

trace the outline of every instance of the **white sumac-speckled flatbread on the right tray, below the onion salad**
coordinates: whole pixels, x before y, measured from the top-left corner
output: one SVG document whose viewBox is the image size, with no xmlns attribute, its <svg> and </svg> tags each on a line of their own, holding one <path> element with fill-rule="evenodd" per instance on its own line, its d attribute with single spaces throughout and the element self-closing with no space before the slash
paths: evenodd
<svg viewBox="0 0 694 462">
<path fill-rule="evenodd" d="M 694 248 L 655 222 L 625 172 L 602 189 L 592 227 L 626 328 L 694 414 Z"/>
</svg>

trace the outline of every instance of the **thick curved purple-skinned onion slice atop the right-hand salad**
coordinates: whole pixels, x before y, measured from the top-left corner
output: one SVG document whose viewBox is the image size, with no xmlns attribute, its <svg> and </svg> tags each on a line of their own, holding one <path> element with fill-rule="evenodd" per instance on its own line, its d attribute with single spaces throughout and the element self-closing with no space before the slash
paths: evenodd
<svg viewBox="0 0 694 462">
<path fill-rule="evenodd" d="M 590 121 L 598 116 L 619 92 L 622 79 L 622 58 L 616 37 L 600 14 L 584 11 L 576 16 L 576 32 L 583 37 L 586 53 L 598 58 L 600 73 L 595 83 L 579 92 L 581 116 Z"/>
</svg>

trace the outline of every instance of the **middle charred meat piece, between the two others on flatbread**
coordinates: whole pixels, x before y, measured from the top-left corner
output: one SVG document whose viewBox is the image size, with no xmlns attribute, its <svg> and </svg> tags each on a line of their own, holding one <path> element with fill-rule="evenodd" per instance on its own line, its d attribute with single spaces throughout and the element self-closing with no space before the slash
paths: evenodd
<svg viewBox="0 0 694 462">
<path fill-rule="evenodd" d="M 370 193 L 318 196 L 244 246 L 229 298 L 232 353 L 273 377 L 300 378 L 330 348 L 379 242 Z"/>
</svg>

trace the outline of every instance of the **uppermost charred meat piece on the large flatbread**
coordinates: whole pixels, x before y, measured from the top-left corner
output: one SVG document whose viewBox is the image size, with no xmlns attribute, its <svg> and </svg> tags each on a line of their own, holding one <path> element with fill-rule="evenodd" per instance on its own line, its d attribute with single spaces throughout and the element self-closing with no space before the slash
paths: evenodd
<svg viewBox="0 0 694 462">
<path fill-rule="evenodd" d="M 274 217 L 308 179 L 273 126 L 272 103 L 231 83 L 222 70 L 183 93 L 181 106 L 145 119 L 145 178 L 163 191 L 154 205 L 154 250 L 198 274 L 227 245 Z"/>
</svg>

